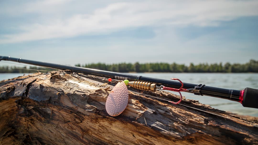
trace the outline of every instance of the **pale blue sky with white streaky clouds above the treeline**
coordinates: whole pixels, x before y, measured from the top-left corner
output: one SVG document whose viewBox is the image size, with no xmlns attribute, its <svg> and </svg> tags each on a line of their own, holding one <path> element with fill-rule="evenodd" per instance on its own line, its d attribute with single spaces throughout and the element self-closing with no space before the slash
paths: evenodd
<svg viewBox="0 0 258 145">
<path fill-rule="evenodd" d="M 0 20 L 0 56 L 68 65 L 258 60 L 252 0 L 10 0 L 0 1 Z"/>
</svg>

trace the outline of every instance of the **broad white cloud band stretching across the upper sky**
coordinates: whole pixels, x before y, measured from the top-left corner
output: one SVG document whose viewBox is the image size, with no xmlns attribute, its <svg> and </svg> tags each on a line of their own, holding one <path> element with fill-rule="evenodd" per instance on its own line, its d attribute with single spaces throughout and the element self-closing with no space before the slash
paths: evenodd
<svg viewBox="0 0 258 145">
<path fill-rule="evenodd" d="M 61 15 L 72 2 L 39 1 L 25 4 L 23 13 Z M 49 7 L 49 9 L 48 9 Z M 55 11 L 55 7 L 56 11 Z M 85 9 L 90 5 L 85 5 Z M 21 33 L 0 35 L 0 43 L 102 34 L 128 27 L 219 25 L 242 16 L 258 15 L 258 1 L 147 1 L 112 3 L 94 11 L 75 11 L 20 27 Z M 83 7 L 80 7 L 83 8 Z M 76 9 L 76 7 L 74 7 Z"/>
</svg>

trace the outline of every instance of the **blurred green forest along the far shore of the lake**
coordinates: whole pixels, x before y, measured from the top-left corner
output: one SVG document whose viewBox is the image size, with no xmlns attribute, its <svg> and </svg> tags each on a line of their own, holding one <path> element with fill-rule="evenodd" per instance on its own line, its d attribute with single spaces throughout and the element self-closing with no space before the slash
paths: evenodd
<svg viewBox="0 0 258 145">
<path fill-rule="evenodd" d="M 258 73 L 258 61 L 251 59 L 245 64 L 239 63 L 200 63 L 194 65 L 190 63 L 189 66 L 177 63 L 118 63 L 118 64 L 105 64 L 105 63 L 91 63 L 91 64 L 76 64 L 75 66 L 86 67 L 91 69 L 112 71 L 112 72 L 173 72 L 173 73 Z M 52 69 L 42 67 L 0 67 L 0 73 L 33 73 L 37 70 L 53 71 Z M 28 70 L 34 69 L 34 70 Z"/>
</svg>

